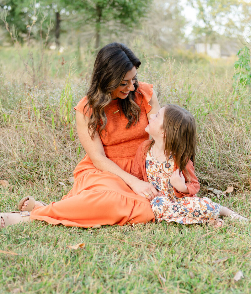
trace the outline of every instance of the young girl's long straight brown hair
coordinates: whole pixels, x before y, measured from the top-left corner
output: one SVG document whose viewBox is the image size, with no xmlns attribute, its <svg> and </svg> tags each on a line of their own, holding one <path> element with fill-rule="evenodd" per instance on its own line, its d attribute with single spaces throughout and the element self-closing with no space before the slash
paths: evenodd
<svg viewBox="0 0 251 294">
<path fill-rule="evenodd" d="M 164 154 L 166 160 L 170 153 L 174 156 L 174 161 L 180 171 L 184 171 L 190 181 L 189 173 L 186 169 L 188 160 L 195 163 L 196 154 L 196 124 L 195 119 L 190 112 L 174 104 L 164 106 Z M 154 144 L 151 140 L 147 151 Z M 147 152 L 146 151 L 146 152 Z"/>
</svg>

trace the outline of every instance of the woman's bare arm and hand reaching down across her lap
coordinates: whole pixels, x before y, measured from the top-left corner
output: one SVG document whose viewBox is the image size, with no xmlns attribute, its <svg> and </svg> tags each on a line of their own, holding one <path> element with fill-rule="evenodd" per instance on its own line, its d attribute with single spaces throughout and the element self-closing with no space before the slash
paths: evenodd
<svg viewBox="0 0 251 294">
<path fill-rule="evenodd" d="M 91 139 L 88 134 L 89 118 L 86 117 L 84 120 L 83 113 L 78 110 L 76 110 L 76 122 L 79 140 L 97 169 L 101 171 L 109 171 L 119 176 L 136 194 L 141 195 L 142 197 L 149 194 L 147 197 L 149 200 L 158 195 L 158 192 L 152 184 L 141 181 L 135 176 L 123 171 L 112 160 L 106 157 L 99 134 L 96 132 L 94 138 Z"/>
</svg>

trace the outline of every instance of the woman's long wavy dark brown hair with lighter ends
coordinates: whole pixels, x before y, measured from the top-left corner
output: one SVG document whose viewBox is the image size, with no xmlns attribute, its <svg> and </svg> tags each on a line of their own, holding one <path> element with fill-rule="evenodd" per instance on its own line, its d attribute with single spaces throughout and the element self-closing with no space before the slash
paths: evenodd
<svg viewBox="0 0 251 294">
<path fill-rule="evenodd" d="M 140 60 L 124 44 L 111 43 L 99 50 L 87 92 L 88 102 L 84 106 L 84 118 L 88 110 L 92 109 L 88 123 L 88 132 L 92 139 L 97 130 L 99 135 L 105 130 L 107 117 L 104 110 L 112 101 L 111 92 L 120 86 L 125 74 L 133 66 L 138 69 L 140 64 Z M 140 117 L 140 107 L 135 103 L 135 92 L 139 87 L 137 80 L 134 87 L 134 91 L 130 91 L 126 99 L 119 100 L 120 108 L 128 119 L 126 128 L 136 124 Z"/>
</svg>

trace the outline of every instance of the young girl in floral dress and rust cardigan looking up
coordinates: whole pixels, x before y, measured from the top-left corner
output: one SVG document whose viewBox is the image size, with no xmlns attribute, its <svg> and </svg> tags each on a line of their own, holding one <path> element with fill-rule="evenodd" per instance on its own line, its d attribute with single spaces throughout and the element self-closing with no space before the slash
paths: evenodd
<svg viewBox="0 0 251 294">
<path fill-rule="evenodd" d="M 208 222 L 220 227 L 224 222 L 219 216 L 247 220 L 207 197 L 196 196 L 200 189 L 193 165 L 196 127 L 188 111 L 168 104 L 151 115 L 145 131 L 152 140 L 139 146 L 131 173 L 152 183 L 160 192 L 155 198 L 151 193 L 145 193 L 145 197 L 152 199 L 152 210 L 158 222 Z"/>
</svg>

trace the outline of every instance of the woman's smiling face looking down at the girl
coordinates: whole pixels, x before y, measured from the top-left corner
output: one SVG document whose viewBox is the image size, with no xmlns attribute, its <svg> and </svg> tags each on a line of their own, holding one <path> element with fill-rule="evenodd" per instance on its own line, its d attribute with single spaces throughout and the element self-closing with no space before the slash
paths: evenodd
<svg viewBox="0 0 251 294">
<path fill-rule="evenodd" d="M 120 86 L 111 92 L 112 100 L 116 98 L 125 99 L 130 91 L 134 91 L 134 83 L 136 81 L 137 71 L 136 67 L 127 71 Z"/>
</svg>

